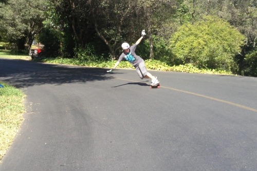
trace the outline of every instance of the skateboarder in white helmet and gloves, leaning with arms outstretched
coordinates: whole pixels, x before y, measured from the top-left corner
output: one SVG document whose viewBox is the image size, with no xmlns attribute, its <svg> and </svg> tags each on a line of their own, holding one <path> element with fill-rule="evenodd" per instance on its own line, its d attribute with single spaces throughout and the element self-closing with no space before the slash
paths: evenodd
<svg viewBox="0 0 257 171">
<path fill-rule="evenodd" d="M 128 43 L 122 43 L 122 54 L 120 55 L 118 61 L 114 65 L 113 69 L 108 70 L 107 72 L 113 72 L 113 70 L 119 65 L 119 63 L 125 59 L 126 61 L 130 62 L 131 65 L 133 65 L 136 68 L 136 71 L 141 79 L 152 79 L 151 85 L 158 85 L 159 81 L 157 80 L 157 77 L 153 76 L 151 73 L 149 73 L 146 70 L 146 67 L 144 65 L 144 61 L 140 56 L 138 56 L 135 53 L 137 45 L 141 42 L 145 35 L 145 31 L 142 30 L 142 36 L 137 40 L 137 42 L 130 46 Z"/>
</svg>

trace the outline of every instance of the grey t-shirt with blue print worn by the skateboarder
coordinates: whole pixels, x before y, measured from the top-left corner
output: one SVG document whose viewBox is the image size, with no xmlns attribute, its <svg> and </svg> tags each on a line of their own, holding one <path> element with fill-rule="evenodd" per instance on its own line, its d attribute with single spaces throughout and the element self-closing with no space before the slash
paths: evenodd
<svg viewBox="0 0 257 171">
<path fill-rule="evenodd" d="M 120 55 L 118 61 L 121 62 L 123 59 L 127 60 L 128 62 L 131 63 L 134 67 L 137 67 L 140 62 L 142 62 L 142 58 L 140 56 L 136 55 L 135 50 L 136 50 L 137 44 L 134 44 L 130 47 L 130 52 L 125 54 L 124 52 Z"/>
</svg>

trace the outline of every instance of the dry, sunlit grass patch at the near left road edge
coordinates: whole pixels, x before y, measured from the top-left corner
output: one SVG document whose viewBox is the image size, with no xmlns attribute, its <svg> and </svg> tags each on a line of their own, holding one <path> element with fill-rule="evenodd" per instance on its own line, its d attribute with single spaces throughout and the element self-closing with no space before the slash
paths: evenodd
<svg viewBox="0 0 257 171">
<path fill-rule="evenodd" d="M 0 82 L 0 161 L 6 150 L 12 144 L 24 120 L 25 107 L 23 100 L 25 94 L 12 86 Z"/>
</svg>

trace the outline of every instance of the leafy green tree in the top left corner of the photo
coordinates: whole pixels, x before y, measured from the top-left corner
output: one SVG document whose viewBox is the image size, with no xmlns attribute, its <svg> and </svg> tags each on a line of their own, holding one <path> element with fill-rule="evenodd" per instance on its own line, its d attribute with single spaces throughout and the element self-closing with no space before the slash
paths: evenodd
<svg viewBox="0 0 257 171">
<path fill-rule="evenodd" d="M 34 35 L 43 28 L 45 1 L 9 0 L 0 11 L 3 37 L 20 50 L 29 50 Z"/>
</svg>

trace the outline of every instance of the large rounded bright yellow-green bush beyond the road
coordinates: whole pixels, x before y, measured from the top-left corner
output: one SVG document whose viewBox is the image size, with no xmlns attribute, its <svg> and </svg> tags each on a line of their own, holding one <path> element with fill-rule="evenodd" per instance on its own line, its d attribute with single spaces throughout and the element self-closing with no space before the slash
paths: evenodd
<svg viewBox="0 0 257 171">
<path fill-rule="evenodd" d="M 182 25 L 172 35 L 170 49 L 176 64 L 234 71 L 233 57 L 241 51 L 245 37 L 229 23 L 206 16 L 195 24 Z"/>
</svg>

